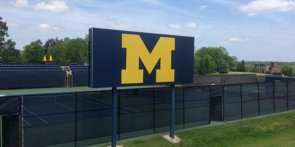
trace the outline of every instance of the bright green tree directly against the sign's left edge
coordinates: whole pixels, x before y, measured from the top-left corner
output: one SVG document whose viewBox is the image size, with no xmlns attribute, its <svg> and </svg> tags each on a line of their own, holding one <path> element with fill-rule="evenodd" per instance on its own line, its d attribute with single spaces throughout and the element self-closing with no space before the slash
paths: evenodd
<svg viewBox="0 0 295 147">
<path fill-rule="evenodd" d="M 71 62 L 88 62 L 88 41 L 78 37 L 68 40 L 66 45 L 67 58 Z"/>
</svg>

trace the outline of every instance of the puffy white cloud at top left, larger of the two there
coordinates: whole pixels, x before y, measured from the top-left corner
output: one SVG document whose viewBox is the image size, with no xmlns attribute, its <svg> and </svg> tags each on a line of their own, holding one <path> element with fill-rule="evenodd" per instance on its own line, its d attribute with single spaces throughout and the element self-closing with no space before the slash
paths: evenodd
<svg viewBox="0 0 295 147">
<path fill-rule="evenodd" d="M 50 1 L 50 3 L 48 3 L 48 4 L 46 4 L 45 2 L 39 2 L 36 5 L 32 5 L 32 7 L 36 11 L 47 10 L 47 11 L 53 12 L 53 13 L 60 13 L 60 12 L 69 11 L 69 7 L 68 7 L 68 5 L 66 5 L 66 2 L 57 1 L 57 0 Z"/>
</svg>

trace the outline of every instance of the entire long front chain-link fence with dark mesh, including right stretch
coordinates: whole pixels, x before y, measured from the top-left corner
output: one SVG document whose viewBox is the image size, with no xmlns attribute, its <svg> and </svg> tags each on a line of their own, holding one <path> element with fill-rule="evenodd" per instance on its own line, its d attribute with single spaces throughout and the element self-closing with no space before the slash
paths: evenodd
<svg viewBox="0 0 295 147">
<path fill-rule="evenodd" d="M 19 135 L 20 146 L 70 147 L 111 141 L 111 90 L 23 95 L 9 100 L 13 99 L 22 105 L 23 119 L 13 125 L 20 125 L 15 133 L 23 134 Z M 117 104 L 117 139 L 170 130 L 170 87 L 119 89 Z M 231 121 L 293 109 L 295 81 L 175 87 L 175 129 L 207 125 L 210 119 Z M 5 127 L 6 120 L 10 121 L 1 118 Z"/>
</svg>

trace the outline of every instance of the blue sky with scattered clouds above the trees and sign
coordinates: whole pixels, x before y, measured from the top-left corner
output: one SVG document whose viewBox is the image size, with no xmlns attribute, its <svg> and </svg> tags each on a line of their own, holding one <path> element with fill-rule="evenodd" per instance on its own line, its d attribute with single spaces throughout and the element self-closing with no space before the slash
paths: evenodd
<svg viewBox="0 0 295 147">
<path fill-rule="evenodd" d="M 17 49 L 95 27 L 193 36 L 196 48 L 224 46 L 238 60 L 295 61 L 295 0 L 2 0 L 0 16 Z"/>
</svg>

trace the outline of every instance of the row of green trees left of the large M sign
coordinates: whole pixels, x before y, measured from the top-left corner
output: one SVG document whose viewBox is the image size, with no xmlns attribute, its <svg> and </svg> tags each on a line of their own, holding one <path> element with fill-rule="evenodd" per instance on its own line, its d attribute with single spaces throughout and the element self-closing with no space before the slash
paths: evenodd
<svg viewBox="0 0 295 147">
<path fill-rule="evenodd" d="M 88 34 L 84 38 L 50 38 L 44 45 L 38 39 L 25 45 L 23 50 L 16 49 L 16 42 L 5 41 L 5 37 L 9 37 L 8 27 L 0 17 L 0 56 L 5 61 L 43 61 L 44 55 L 47 58 L 52 55 L 55 62 L 88 62 Z"/>
</svg>

